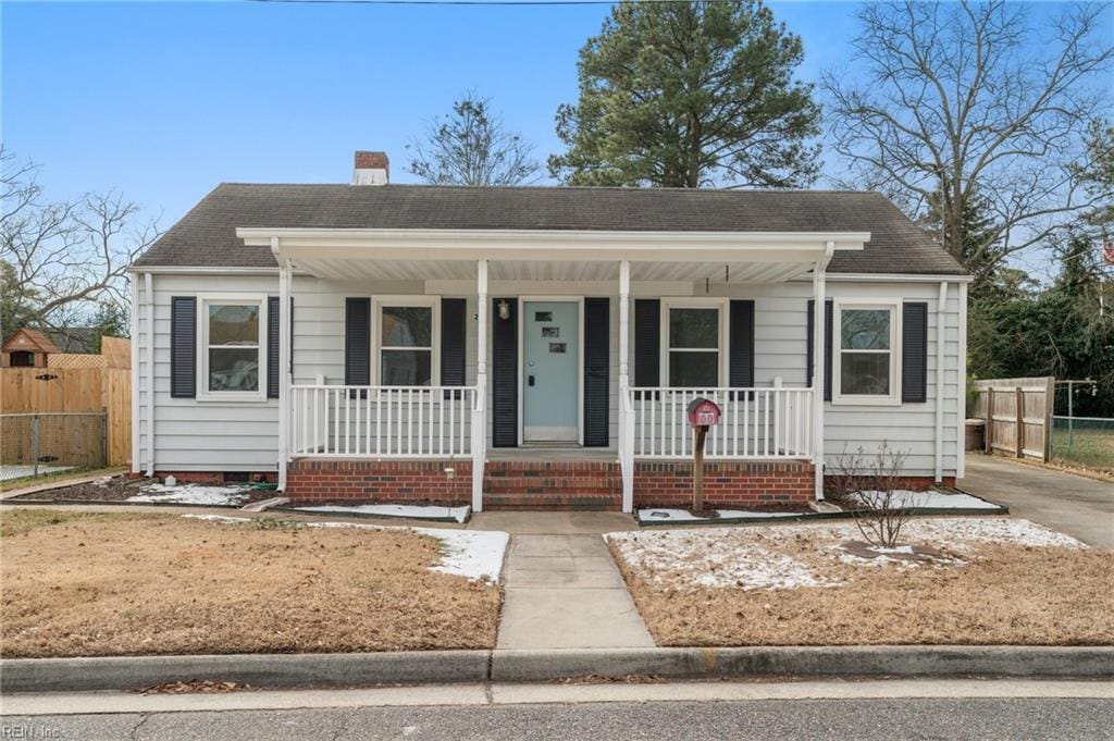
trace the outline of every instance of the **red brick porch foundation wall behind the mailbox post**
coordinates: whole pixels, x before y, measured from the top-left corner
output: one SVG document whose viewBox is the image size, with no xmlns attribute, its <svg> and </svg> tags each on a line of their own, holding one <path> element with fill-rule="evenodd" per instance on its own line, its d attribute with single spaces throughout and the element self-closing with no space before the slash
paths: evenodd
<svg viewBox="0 0 1114 741">
<path fill-rule="evenodd" d="M 687 461 L 634 465 L 635 507 L 692 504 L 693 465 Z M 716 461 L 704 464 L 704 501 L 716 507 L 807 505 L 813 496 L 812 464 Z"/>
</svg>

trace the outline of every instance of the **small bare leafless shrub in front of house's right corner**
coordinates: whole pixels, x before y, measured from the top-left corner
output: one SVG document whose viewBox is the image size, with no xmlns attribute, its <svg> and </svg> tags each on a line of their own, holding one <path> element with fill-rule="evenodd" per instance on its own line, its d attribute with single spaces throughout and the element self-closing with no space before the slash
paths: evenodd
<svg viewBox="0 0 1114 741">
<path fill-rule="evenodd" d="M 854 452 L 844 448 L 836 456 L 828 489 L 854 515 L 854 524 L 871 545 L 892 548 L 911 509 L 901 494 L 908 450 L 895 450 L 882 442 L 877 452 L 861 446 Z"/>
</svg>

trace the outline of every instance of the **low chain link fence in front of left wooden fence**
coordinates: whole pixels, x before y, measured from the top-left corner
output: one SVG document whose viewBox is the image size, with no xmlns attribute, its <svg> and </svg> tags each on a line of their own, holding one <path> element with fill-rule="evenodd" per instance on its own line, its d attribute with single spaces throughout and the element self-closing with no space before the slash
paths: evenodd
<svg viewBox="0 0 1114 741">
<path fill-rule="evenodd" d="M 100 468 L 107 461 L 105 412 L 0 415 L 0 481 Z"/>
</svg>

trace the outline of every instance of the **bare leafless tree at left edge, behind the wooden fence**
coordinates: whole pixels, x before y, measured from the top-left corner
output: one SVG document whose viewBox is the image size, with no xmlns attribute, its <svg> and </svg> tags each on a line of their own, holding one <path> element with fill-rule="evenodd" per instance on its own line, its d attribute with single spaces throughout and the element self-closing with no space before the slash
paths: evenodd
<svg viewBox="0 0 1114 741">
<path fill-rule="evenodd" d="M 86 321 L 106 302 L 126 306 L 125 271 L 159 231 L 117 192 L 50 202 L 38 167 L 0 146 L 3 321 L 48 330 Z M 18 326 L 0 326 L 10 333 Z"/>
</svg>

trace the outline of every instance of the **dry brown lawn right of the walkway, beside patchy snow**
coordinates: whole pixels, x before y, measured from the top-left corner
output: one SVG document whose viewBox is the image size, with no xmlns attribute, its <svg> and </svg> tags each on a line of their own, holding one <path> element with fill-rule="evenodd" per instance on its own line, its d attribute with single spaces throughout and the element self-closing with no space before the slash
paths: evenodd
<svg viewBox="0 0 1114 741">
<path fill-rule="evenodd" d="M 902 567 L 821 564 L 808 537 L 779 546 L 839 586 L 698 586 L 610 544 L 658 645 L 1114 644 L 1110 550 L 980 544 L 961 566 Z"/>
</svg>

